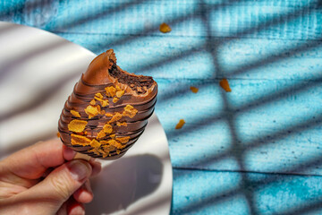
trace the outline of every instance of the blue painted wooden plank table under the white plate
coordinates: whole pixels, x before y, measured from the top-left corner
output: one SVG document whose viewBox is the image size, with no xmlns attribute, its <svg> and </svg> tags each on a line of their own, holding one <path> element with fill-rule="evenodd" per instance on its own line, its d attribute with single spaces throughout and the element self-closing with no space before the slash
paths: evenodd
<svg viewBox="0 0 322 215">
<path fill-rule="evenodd" d="M 157 80 L 172 214 L 322 214 L 321 1 L 1 0 L 0 20 Z"/>
</svg>

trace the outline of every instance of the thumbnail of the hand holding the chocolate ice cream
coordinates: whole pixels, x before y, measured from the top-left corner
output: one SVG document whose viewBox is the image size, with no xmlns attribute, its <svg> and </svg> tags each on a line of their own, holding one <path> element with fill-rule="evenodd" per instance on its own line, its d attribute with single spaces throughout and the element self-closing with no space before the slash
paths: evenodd
<svg viewBox="0 0 322 215">
<path fill-rule="evenodd" d="M 69 170 L 73 179 L 81 181 L 90 174 L 90 165 L 86 165 L 84 161 L 72 160 L 69 164 Z"/>
</svg>

